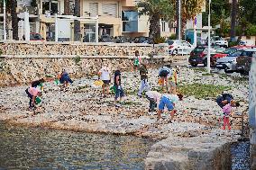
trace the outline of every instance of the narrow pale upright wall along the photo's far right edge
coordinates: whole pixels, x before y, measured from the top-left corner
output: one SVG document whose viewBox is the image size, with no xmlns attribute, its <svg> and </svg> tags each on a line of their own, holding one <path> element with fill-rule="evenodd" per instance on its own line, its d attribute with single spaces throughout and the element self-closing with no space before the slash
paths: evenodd
<svg viewBox="0 0 256 170">
<path fill-rule="evenodd" d="M 250 156 L 251 169 L 256 169 L 256 58 L 252 58 L 250 80 L 249 80 L 249 118 L 250 118 Z"/>
</svg>

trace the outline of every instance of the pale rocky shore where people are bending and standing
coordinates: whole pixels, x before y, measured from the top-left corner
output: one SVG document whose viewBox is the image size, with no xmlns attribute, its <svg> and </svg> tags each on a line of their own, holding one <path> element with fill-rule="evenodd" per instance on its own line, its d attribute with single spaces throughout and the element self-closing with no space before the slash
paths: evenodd
<svg viewBox="0 0 256 170">
<path fill-rule="evenodd" d="M 149 72 L 151 89 L 159 90 L 157 69 L 150 69 Z M 114 107 L 114 95 L 101 97 L 101 88 L 95 86 L 94 81 L 93 76 L 76 79 L 67 92 L 60 91 L 59 86 L 54 85 L 53 82 L 46 83 L 45 93 L 42 96 L 43 103 L 36 112 L 28 110 L 28 98 L 24 92 L 27 86 L 1 88 L 0 120 L 24 126 L 132 134 L 150 139 L 164 139 L 156 143 L 149 153 L 145 162 L 147 169 L 163 166 L 163 156 L 169 165 L 186 161 L 184 166 L 177 166 L 178 169 L 198 167 L 195 165 L 195 160 L 201 160 L 202 157 L 200 158 L 196 151 L 205 149 L 216 152 L 218 149 L 221 152 L 228 142 L 240 138 L 242 112 L 245 113 L 244 121 L 247 122 L 248 81 L 237 74 L 229 76 L 222 73 L 207 74 L 202 68 L 181 67 L 178 86 L 187 94 L 185 93 L 184 100 L 177 104 L 178 112 L 172 122 L 169 122 L 169 115 L 163 115 L 165 119 L 157 121 L 156 112 L 148 112 L 147 99 L 137 97 L 139 76 L 134 77 L 133 73 L 123 72 L 123 88 L 126 96 L 119 109 Z M 200 93 L 205 93 L 203 88 L 197 92 L 198 94 L 188 95 L 187 86 L 195 84 L 219 85 L 215 87 L 219 91 L 222 86 L 226 86 L 228 88 L 225 92 L 233 94 L 240 101 L 242 106 L 235 111 L 232 118 L 232 130 L 221 130 L 222 121 L 219 121 L 221 110 L 215 103 L 214 96 L 200 97 Z M 177 155 L 179 158 L 173 157 L 175 153 L 179 153 Z M 225 154 L 228 157 L 229 154 Z M 216 155 L 209 156 L 209 160 Z M 221 154 L 219 156 L 223 157 Z M 194 159 L 192 160 L 191 157 Z M 212 162 L 224 165 L 224 163 Z M 198 169 L 207 166 L 211 165 L 203 164 Z"/>
</svg>

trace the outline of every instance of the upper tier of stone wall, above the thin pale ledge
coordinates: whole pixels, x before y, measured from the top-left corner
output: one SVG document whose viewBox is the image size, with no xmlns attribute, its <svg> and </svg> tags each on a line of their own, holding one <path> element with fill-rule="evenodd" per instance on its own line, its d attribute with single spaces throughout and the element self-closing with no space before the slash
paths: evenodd
<svg viewBox="0 0 256 170">
<path fill-rule="evenodd" d="M 51 42 L 7 42 L 1 44 L 2 55 L 31 55 L 40 57 L 43 55 L 79 55 L 79 56 L 134 56 L 135 50 L 139 50 L 142 56 L 148 56 L 151 52 L 158 56 L 168 55 L 167 44 L 134 44 L 134 43 L 51 43 Z"/>
</svg>

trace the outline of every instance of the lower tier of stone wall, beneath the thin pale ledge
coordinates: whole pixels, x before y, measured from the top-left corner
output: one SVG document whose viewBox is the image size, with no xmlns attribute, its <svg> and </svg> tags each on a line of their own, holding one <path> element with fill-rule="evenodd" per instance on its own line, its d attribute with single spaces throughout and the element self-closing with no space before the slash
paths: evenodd
<svg viewBox="0 0 256 170">
<path fill-rule="evenodd" d="M 145 59 L 149 67 L 171 63 L 169 58 Z M 133 69 L 133 58 L 0 58 L 0 86 L 24 85 L 46 76 L 57 76 L 65 68 L 72 78 L 96 75 L 106 63 L 111 70 Z"/>
</svg>

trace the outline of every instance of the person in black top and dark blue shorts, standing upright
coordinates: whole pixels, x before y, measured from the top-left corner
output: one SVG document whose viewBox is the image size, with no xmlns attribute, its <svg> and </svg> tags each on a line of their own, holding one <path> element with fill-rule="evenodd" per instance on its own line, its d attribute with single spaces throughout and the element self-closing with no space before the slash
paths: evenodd
<svg viewBox="0 0 256 170">
<path fill-rule="evenodd" d="M 119 107 L 120 104 L 117 104 L 117 99 L 120 97 L 119 102 L 121 102 L 122 97 L 124 95 L 123 87 L 121 85 L 121 71 L 120 71 L 120 69 L 117 69 L 114 72 L 114 88 L 115 88 L 114 104 L 115 104 L 115 107 Z"/>
</svg>

